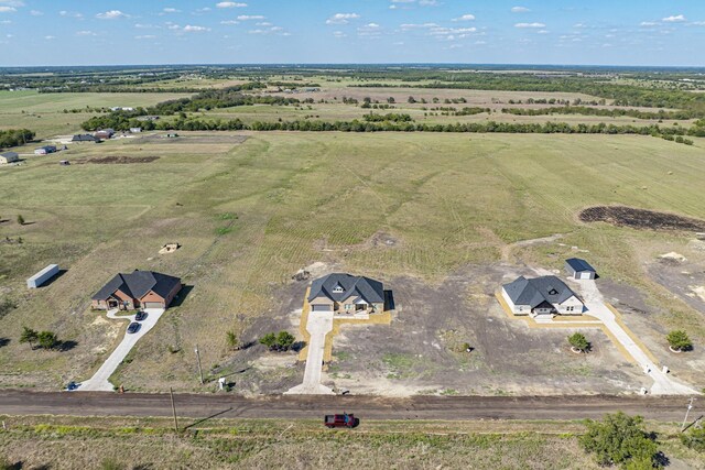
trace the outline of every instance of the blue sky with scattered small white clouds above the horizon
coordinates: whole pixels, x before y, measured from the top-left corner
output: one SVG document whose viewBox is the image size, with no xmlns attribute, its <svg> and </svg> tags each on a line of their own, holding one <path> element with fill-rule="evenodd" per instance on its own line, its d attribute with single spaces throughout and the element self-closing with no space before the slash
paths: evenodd
<svg viewBox="0 0 705 470">
<path fill-rule="evenodd" d="M 705 66 L 703 0 L 0 0 L 0 66 Z"/>
</svg>

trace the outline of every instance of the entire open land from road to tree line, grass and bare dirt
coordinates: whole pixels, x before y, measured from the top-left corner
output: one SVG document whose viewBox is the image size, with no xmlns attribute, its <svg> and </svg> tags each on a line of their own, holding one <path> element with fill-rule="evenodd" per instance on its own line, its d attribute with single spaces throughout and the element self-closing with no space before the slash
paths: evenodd
<svg viewBox="0 0 705 470">
<path fill-rule="evenodd" d="M 505 276 L 557 270 L 576 253 L 598 267 L 609 295 L 622 303 L 616 304 L 626 310 L 625 321 L 654 354 L 676 376 L 703 386 L 702 359 L 673 358 L 664 346 L 673 327 L 687 329 L 696 345 L 705 340 L 701 300 L 674 298 L 673 286 L 649 274 L 659 270 L 658 256 L 671 251 L 702 270 L 694 233 L 578 219 L 586 207 L 611 204 L 703 218 L 702 141 L 685 146 L 633 135 L 180 134 L 70 145 L 61 156 L 0 168 L 0 295 L 18 303 L 0 319 L 7 339 L 1 386 L 56 389 L 88 378 L 123 331 L 88 309 L 90 296 L 119 271 L 150 269 L 183 277 L 187 288 L 132 350 L 116 384 L 212 390 L 213 383 L 202 387 L 196 379 L 198 345 L 209 380 L 237 373 L 238 393 L 285 391 L 303 375 L 295 354 L 265 352 L 261 345 L 230 351 L 225 331 L 243 341 L 272 330 L 295 332 L 305 283 L 291 276 L 318 263 L 384 281 L 397 289 L 399 305 L 389 329 L 345 330 L 334 346 L 336 369 L 328 369 L 334 383 L 355 390 L 377 378 L 383 383 L 376 390 L 402 395 L 638 387 L 638 367 L 625 363 L 606 338 L 594 334 L 595 356 L 567 363 L 561 359 L 567 332 L 523 329 L 491 302 Z M 142 163 L 91 163 L 138 157 Z M 59 167 L 59 159 L 74 164 Z M 18 225 L 19 214 L 29 223 Z M 560 238 L 547 243 L 517 244 L 554 234 Z M 156 253 L 172 241 L 183 248 Z M 68 271 L 28 292 L 25 277 L 52 262 Z M 420 332 L 409 336 L 404 325 Z M 75 345 L 70 351 L 30 351 L 18 341 L 23 326 L 55 330 Z M 469 359 L 452 351 L 456 334 L 474 342 Z M 416 374 L 426 362 L 436 367 Z M 369 368 L 361 371 L 364 363 Z M 520 363 L 535 372 L 524 374 Z M 456 379 L 448 385 L 451 373 Z"/>
</svg>

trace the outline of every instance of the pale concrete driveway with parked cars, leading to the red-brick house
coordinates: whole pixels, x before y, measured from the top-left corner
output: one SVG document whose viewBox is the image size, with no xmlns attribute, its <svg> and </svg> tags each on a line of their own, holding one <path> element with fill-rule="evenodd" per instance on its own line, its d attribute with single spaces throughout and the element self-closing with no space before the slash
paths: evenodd
<svg viewBox="0 0 705 470">
<path fill-rule="evenodd" d="M 159 321 L 162 314 L 164 314 L 163 308 L 145 308 L 144 311 L 147 311 L 147 318 L 140 321 L 140 324 L 142 325 L 140 329 L 131 335 L 126 332 L 124 338 L 122 338 L 120 345 L 118 345 L 118 347 L 115 349 L 115 351 L 112 351 L 110 357 L 102 363 L 102 365 L 100 365 L 100 369 L 98 369 L 94 376 L 83 382 L 78 386 L 78 389 L 76 389 L 76 392 L 112 392 L 112 384 L 110 383 L 110 381 L 108 381 L 108 379 L 110 378 L 110 375 L 112 375 L 116 369 L 118 369 L 122 360 L 128 356 L 137 341 L 139 341 L 140 338 L 147 335 L 149 330 L 154 328 L 156 321 Z M 122 320 L 126 329 L 128 325 L 130 325 L 130 323 L 134 321 L 134 315 L 131 315 L 129 317 L 117 317 L 117 313 L 118 310 L 109 310 L 108 318 Z M 123 321 L 126 319 L 129 319 L 130 321 Z"/>
</svg>

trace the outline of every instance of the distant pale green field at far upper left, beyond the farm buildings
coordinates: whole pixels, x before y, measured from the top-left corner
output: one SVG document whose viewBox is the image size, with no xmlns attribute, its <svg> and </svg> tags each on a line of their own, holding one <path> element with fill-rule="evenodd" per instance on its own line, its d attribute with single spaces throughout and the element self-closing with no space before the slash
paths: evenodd
<svg viewBox="0 0 705 470">
<path fill-rule="evenodd" d="M 161 101 L 188 97 L 188 94 L 40 94 L 35 90 L 0 91 L 0 130 L 24 128 L 36 132 L 37 139 L 56 134 L 70 134 L 80 130 L 80 123 L 99 116 L 91 112 L 64 112 L 116 106 L 137 108 Z"/>
</svg>

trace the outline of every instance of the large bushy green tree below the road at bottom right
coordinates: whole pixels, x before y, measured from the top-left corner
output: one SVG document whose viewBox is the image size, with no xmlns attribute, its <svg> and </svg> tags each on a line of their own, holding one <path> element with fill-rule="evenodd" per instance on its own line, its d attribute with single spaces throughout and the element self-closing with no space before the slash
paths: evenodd
<svg viewBox="0 0 705 470">
<path fill-rule="evenodd" d="M 623 469 L 661 468 L 658 446 L 642 428 L 641 416 L 622 412 L 607 414 L 601 422 L 588 419 L 587 433 L 578 441 L 594 453 L 600 466 L 619 464 Z M 644 467 L 644 464 L 647 467 Z"/>
</svg>

